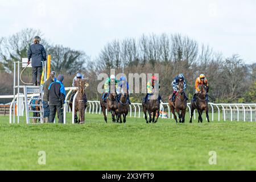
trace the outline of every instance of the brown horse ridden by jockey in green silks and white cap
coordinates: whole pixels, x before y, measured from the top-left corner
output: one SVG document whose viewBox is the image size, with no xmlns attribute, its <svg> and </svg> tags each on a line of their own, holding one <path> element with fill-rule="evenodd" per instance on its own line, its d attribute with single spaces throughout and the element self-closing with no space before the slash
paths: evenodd
<svg viewBox="0 0 256 182">
<path fill-rule="evenodd" d="M 107 117 L 106 117 L 106 109 L 112 114 L 112 121 L 116 122 L 115 120 L 115 115 L 116 115 L 116 110 L 117 110 L 117 92 L 115 91 L 115 84 L 110 84 L 111 89 L 114 90 L 113 93 L 108 93 L 106 97 L 106 102 L 104 102 L 104 99 L 101 98 L 100 104 L 101 104 L 101 109 L 102 113 L 104 115 L 105 122 L 107 123 Z"/>
</svg>

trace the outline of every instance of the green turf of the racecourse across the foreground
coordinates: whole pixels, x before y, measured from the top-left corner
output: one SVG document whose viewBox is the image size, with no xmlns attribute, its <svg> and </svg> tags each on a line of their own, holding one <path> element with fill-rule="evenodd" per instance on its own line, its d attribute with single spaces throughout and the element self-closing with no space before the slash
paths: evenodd
<svg viewBox="0 0 256 182">
<path fill-rule="evenodd" d="M 256 169 L 256 122 L 85 118 L 85 125 L 26 125 L 24 118 L 10 125 L 0 117 L 0 170 Z M 46 152 L 46 165 L 38 164 L 39 151 Z M 217 165 L 209 165 L 209 151 L 217 152 Z"/>
</svg>

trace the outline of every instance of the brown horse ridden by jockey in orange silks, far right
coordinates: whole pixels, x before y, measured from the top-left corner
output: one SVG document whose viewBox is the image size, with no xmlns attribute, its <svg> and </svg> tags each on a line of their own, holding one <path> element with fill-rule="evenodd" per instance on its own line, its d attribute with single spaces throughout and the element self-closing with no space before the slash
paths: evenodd
<svg viewBox="0 0 256 182">
<path fill-rule="evenodd" d="M 207 90 L 208 87 L 206 85 L 201 86 L 201 93 L 198 93 L 196 96 L 196 101 L 191 101 L 191 118 L 190 118 L 190 123 L 192 123 L 192 117 L 193 117 L 193 112 L 195 109 L 197 109 L 198 111 L 198 122 L 203 122 L 203 118 L 202 118 L 202 113 L 205 110 L 205 113 L 207 115 L 207 121 L 208 123 L 209 121 L 209 114 L 208 114 L 208 101 L 207 101 Z"/>
</svg>

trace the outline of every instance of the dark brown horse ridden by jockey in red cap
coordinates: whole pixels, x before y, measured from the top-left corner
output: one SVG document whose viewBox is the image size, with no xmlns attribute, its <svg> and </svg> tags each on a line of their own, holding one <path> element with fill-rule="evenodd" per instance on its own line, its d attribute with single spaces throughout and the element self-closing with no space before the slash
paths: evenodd
<svg viewBox="0 0 256 182">
<path fill-rule="evenodd" d="M 149 122 L 151 123 L 156 123 L 158 122 L 158 118 L 159 118 L 159 115 L 160 115 L 160 101 L 158 99 L 158 96 L 159 94 L 158 93 L 155 93 L 153 92 L 152 95 L 150 95 L 150 99 L 148 101 L 145 102 L 142 102 L 142 107 L 143 107 L 143 112 L 144 112 L 144 117 L 146 119 L 146 122 L 148 123 L 147 121 L 147 111 L 148 111 L 148 115 L 149 115 Z M 151 114 L 153 114 L 153 116 L 151 116 Z M 157 116 L 156 116 L 157 114 Z M 156 119 L 155 119 L 156 117 Z"/>
</svg>

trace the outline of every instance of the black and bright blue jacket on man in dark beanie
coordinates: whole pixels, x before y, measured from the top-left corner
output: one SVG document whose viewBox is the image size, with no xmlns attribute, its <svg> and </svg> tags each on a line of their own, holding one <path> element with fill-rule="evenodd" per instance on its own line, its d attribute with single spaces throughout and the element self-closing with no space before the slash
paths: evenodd
<svg viewBox="0 0 256 182">
<path fill-rule="evenodd" d="M 48 101 L 49 105 L 65 104 L 66 91 L 63 83 L 59 80 L 49 85 Z"/>
</svg>

